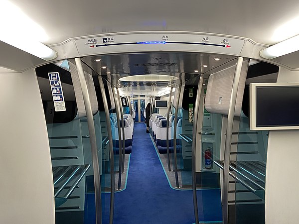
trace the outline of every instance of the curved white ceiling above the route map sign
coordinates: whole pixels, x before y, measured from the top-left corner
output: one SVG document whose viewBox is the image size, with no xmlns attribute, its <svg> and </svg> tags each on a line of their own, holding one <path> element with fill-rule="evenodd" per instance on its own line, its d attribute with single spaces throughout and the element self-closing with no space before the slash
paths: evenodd
<svg viewBox="0 0 299 224">
<path fill-rule="evenodd" d="M 11 0 L 48 35 L 66 39 L 122 31 L 197 31 L 274 44 L 277 29 L 298 17 L 298 0 Z M 13 25 L 13 24 L 11 24 Z M 299 34 L 298 26 L 288 35 Z M 24 33 L 19 34 L 20 37 Z M 288 37 L 291 37 L 288 36 Z"/>
</svg>

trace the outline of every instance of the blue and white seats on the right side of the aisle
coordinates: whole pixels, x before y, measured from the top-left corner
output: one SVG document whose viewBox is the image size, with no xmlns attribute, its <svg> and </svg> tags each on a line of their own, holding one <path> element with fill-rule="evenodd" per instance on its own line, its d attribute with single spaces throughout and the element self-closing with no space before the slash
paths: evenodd
<svg viewBox="0 0 299 224">
<path fill-rule="evenodd" d="M 177 117 L 176 125 L 176 152 L 181 150 L 181 138 L 179 134 L 182 132 L 182 117 Z M 170 115 L 169 119 L 158 113 L 153 113 L 149 119 L 149 131 L 157 146 L 158 152 L 167 153 L 167 122 L 168 125 L 168 142 L 169 153 L 173 153 L 173 132 L 174 132 L 174 115 Z"/>
</svg>

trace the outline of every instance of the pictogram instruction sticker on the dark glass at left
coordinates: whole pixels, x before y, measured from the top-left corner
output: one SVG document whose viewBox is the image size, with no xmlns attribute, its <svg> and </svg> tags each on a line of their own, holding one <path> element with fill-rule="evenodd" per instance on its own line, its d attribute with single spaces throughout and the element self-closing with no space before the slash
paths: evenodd
<svg viewBox="0 0 299 224">
<path fill-rule="evenodd" d="M 48 75 L 51 85 L 55 111 L 66 111 L 59 73 L 49 72 Z"/>
</svg>

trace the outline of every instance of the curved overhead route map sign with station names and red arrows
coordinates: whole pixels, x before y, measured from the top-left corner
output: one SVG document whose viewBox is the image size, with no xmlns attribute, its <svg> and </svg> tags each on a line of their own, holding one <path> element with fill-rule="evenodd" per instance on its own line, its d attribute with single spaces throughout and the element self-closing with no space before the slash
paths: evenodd
<svg viewBox="0 0 299 224">
<path fill-rule="evenodd" d="M 79 54 L 103 54 L 128 50 L 208 52 L 238 55 L 245 41 L 233 37 L 187 33 L 115 34 L 75 40 Z M 128 49 L 130 45 L 130 49 Z"/>
</svg>

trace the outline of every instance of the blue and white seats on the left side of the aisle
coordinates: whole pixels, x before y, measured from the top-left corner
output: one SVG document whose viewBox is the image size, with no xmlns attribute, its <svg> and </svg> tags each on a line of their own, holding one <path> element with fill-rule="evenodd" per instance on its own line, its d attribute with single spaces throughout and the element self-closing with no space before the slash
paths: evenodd
<svg viewBox="0 0 299 224">
<path fill-rule="evenodd" d="M 113 151 L 114 154 L 119 154 L 119 131 L 118 122 L 116 114 L 110 114 L 110 122 L 112 129 L 112 140 L 113 140 Z M 134 120 L 131 114 L 124 114 L 124 119 L 120 119 L 121 127 L 121 137 L 123 139 L 123 126 L 125 130 L 125 154 L 130 154 L 132 152 L 133 144 L 133 130 L 134 130 Z M 123 147 L 123 141 L 121 141 L 121 147 Z"/>
</svg>

